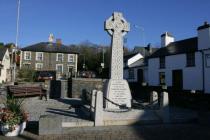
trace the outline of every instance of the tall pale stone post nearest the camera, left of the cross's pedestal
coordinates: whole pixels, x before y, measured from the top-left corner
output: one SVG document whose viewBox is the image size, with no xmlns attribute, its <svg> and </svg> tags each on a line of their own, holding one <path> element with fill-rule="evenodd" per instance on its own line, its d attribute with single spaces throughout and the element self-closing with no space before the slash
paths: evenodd
<svg viewBox="0 0 210 140">
<path fill-rule="evenodd" d="M 103 126 L 103 92 L 97 91 L 95 100 L 95 126 Z"/>
</svg>

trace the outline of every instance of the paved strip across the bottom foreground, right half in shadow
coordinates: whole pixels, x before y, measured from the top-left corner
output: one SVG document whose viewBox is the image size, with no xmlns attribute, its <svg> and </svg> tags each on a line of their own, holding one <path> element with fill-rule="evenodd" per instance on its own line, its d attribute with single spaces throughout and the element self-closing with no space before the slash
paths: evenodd
<svg viewBox="0 0 210 140">
<path fill-rule="evenodd" d="M 18 137 L 1 140 L 209 140 L 210 127 L 199 124 L 109 126 L 68 129 L 68 135 L 38 136 L 26 130 Z"/>
</svg>

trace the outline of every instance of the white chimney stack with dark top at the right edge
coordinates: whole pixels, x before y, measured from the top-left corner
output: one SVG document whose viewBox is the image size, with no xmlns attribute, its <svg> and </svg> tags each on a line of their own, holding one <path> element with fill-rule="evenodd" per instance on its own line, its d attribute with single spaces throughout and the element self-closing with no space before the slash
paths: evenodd
<svg viewBox="0 0 210 140">
<path fill-rule="evenodd" d="M 210 25 L 208 22 L 197 28 L 198 31 L 198 50 L 210 48 Z"/>
</svg>

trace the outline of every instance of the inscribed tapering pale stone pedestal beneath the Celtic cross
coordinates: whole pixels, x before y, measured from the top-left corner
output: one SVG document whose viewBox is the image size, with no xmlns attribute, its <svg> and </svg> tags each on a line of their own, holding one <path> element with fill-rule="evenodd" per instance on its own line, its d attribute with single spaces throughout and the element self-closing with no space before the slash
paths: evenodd
<svg viewBox="0 0 210 140">
<path fill-rule="evenodd" d="M 106 89 L 106 108 L 107 109 L 120 109 L 119 106 L 112 102 L 131 108 L 131 92 L 126 80 L 110 79 Z"/>
</svg>

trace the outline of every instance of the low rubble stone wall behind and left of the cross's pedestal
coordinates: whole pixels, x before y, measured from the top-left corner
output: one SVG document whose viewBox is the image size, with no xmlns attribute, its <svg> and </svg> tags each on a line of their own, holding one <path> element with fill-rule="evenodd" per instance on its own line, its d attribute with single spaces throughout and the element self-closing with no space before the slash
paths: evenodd
<svg viewBox="0 0 210 140">
<path fill-rule="evenodd" d="M 102 88 L 106 79 L 72 78 L 71 97 L 79 98 L 84 91 L 91 92 L 93 89 Z"/>
</svg>

